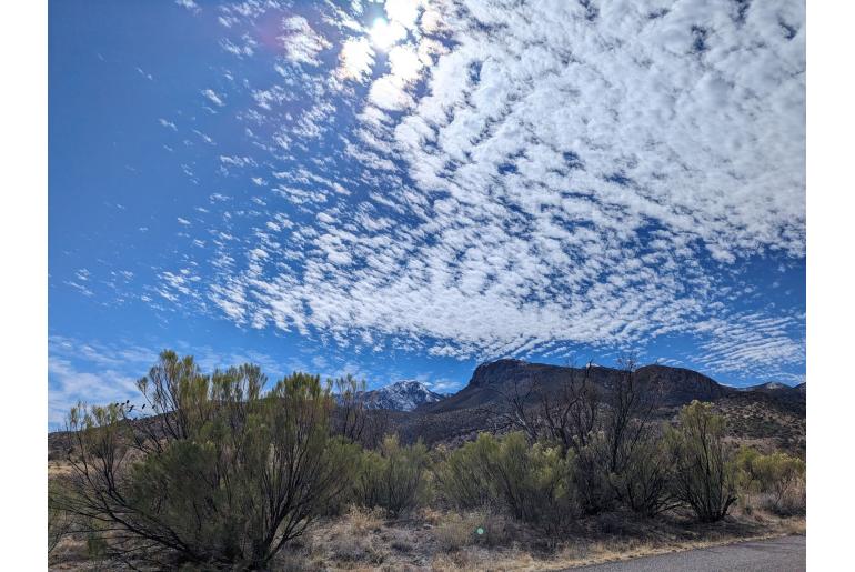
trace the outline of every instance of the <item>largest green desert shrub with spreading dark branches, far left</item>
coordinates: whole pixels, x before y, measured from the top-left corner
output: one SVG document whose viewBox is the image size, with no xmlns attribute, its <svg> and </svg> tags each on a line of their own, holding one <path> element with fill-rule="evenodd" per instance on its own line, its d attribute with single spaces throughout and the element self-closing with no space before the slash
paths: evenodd
<svg viewBox="0 0 855 572">
<path fill-rule="evenodd" d="M 203 375 L 163 352 L 138 383 L 154 413 L 74 408 L 72 475 L 57 506 L 107 523 L 104 550 L 162 566 L 264 568 L 352 479 L 355 445 L 330 434 L 332 399 L 294 373 L 268 393 L 254 365 Z M 99 544 L 101 545 L 101 544 Z"/>
</svg>

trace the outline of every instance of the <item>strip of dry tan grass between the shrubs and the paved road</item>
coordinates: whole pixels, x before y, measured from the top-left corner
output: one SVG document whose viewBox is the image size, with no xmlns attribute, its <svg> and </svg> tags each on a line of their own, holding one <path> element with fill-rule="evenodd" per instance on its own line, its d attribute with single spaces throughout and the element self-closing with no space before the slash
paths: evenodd
<svg viewBox="0 0 855 572">
<path fill-rule="evenodd" d="M 483 529 L 483 534 L 477 529 Z M 547 571 L 663 554 L 733 542 L 802 534 L 804 519 L 763 510 L 701 525 L 687 515 L 648 520 L 608 514 L 581 521 L 556 549 L 513 521 L 490 511 L 463 514 L 423 509 L 388 520 L 352 509 L 319 522 L 289 554 L 291 570 Z"/>
</svg>

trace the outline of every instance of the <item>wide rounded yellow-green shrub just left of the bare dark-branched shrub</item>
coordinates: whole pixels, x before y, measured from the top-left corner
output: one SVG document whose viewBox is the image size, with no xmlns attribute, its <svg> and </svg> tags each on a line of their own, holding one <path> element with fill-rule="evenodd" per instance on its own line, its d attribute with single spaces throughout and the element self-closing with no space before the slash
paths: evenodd
<svg viewBox="0 0 855 572">
<path fill-rule="evenodd" d="M 549 443 L 531 445 L 523 432 L 501 439 L 482 433 L 449 455 L 437 470 L 437 483 L 443 498 L 457 506 L 500 506 L 556 535 L 579 515 L 572 459 L 572 453 L 562 454 L 561 448 Z M 465 483 L 469 475 L 476 484 Z"/>
</svg>

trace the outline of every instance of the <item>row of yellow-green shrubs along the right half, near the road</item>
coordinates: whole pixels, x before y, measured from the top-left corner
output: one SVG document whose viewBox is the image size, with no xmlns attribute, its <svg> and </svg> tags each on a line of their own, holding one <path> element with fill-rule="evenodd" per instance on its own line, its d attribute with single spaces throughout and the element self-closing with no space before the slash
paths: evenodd
<svg viewBox="0 0 855 572">
<path fill-rule="evenodd" d="M 797 512 L 798 499 L 803 506 L 804 462 L 753 450 L 734 455 L 724 420 L 708 403 L 686 405 L 661 439 L 636 443 L 621 471 L 610 471 L 606 444 L 603 435 L 593 435 L 574 454 L 549 440 L 532 444 L 523 432 L 482 433 L 441 455 L 434 469 L 437 498 L 461 511 L 504 510 L 550 534 L 565 532 L 594 506 L 647 515 L 684 506 L 698 521 L 714 522 L 728 513 L 737 490 L 770 493 L 781 514 Z"/>
</svg>

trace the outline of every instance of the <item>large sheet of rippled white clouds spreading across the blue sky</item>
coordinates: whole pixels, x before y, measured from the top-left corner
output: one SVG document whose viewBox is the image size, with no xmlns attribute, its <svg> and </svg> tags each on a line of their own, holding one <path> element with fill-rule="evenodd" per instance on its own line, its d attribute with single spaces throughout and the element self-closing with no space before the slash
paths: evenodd
<svg viewBox="0 0 855 572">
<path fill-rule="evenodd" d="M 178 4 L 222 64 L 157 120 L 199 200 L 121 295 L 361 350 L 802 369 L 802 2 Z"/>
</svg>

